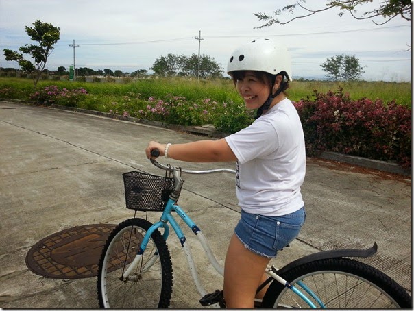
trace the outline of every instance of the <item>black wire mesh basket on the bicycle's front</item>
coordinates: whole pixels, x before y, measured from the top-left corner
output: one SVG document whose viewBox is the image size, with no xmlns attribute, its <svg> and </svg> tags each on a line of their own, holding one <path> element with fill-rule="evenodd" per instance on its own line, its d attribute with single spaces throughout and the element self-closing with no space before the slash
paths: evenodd
<svg viewBox="0 0 414 311">
<path fill-rule="evenodd" d="M 127 208 L 145 212 L 162 212 L 174 188 L 171 177 L 132 171 L 123 174 Z"/>
</svg>

